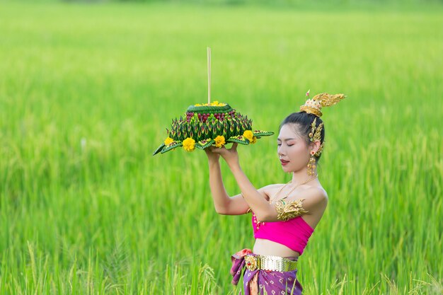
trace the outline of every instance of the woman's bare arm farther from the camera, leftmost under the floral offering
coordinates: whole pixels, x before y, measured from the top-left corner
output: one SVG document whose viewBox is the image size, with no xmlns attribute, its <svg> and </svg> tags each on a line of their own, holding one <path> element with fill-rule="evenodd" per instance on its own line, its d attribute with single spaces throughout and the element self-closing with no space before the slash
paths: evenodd
<svg viewBox="0 0 443 295">
<path fill-rule="evenodd" d="M 245 214 L 249 209 L 248 203 L 241 195 L 229 197 L 224 188 L 219 163 L 220 155 L 212 153 L 210 149 L 205 149 L 205 151 L 209 162 L 209 187 L 211 188 L 215 211 L 223 215 Z"/>
</svg>

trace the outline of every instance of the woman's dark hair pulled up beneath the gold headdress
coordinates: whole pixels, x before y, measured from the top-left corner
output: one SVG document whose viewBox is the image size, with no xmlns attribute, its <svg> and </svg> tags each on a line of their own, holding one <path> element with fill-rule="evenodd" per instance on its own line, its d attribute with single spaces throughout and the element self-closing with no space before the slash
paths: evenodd
<svg viewBox="0 0 443 295">
<path fill-rule="evenodd" d="M 316 115 L 313 114 L 309 114 L 307 112 L 293 112 L 291 115 L 284 118 L 282 124 L 280 124 L 279 132 L 280 129 L 282 129 L 283 125 L 292 124 L 295 127 L 294 131 L 306 141 L 306 146 L 308 146 L 311 143 L 311 140 L 309 138 L 309 133 L 311 132 L 311 124 L 315 118 L 317 118 L 316 127 L 318 127 L 318 125 L 320 125 L 323 122 L 320 117 L 317 117 Z M 320 143 L 322 144 L 323 141 L 325 140 L 324 124 L 320 132 L 320 137 L 321 137 Z M 317 161 L 320 159 L 322 154 L 320 154 L 320 156 L 318 157 L 316 156 Z"/>
</svg>

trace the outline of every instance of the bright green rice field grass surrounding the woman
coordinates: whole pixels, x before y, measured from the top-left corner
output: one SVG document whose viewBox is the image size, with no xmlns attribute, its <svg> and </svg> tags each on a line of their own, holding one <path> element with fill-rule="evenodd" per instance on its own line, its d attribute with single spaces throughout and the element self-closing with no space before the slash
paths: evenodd
<svg viewBox="0 0 443 295">
<path fill-rule="evenodd" d="M 442 12 L 1 3 L 0 294 L 238 294 L 250 216 L 214 212 L 202 151 L 151 156 L 205 102 L 208 45 L 213 100 L 254 127 L 347 94 L 304 294 L 442 294 Z M 289 180 L 276 137 L 239 154 L 256 187 Z"/>
</svg>

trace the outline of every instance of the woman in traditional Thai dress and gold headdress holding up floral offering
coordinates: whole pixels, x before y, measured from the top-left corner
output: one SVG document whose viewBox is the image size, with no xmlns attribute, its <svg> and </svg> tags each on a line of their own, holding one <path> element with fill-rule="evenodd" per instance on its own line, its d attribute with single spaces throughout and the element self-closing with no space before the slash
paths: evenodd
<svg viewBox="0 0 443 295">
<path fill-rule="evenodd" d="M 277 138 L 277 154 L 282 170 L 292 173 L 289 183 L 267 185 L 257 190 L 241 170 L 237 144 L 231 149 L 214 146 L 205 149 L 209 161 L 209 185 L 217 213 L 240 215 L 252 212 L 253 251 L 243 249 L 231 258 L 233 284 L 237 284 L 243 267 L 246 267 L 243 274 L 246 295 L 301 294 L 302 287 L 296 277 L 297 260 L 328 204 L 328 195 L 316 171 L 325 137 L 321 108 L 334 105 L 343 98 L 343 94 L 321 93 L 306 100 L 300 112 L 283 120 Z M 220 156 L 234 174 L 240 195 L 227 195 Z"/>
</svg>

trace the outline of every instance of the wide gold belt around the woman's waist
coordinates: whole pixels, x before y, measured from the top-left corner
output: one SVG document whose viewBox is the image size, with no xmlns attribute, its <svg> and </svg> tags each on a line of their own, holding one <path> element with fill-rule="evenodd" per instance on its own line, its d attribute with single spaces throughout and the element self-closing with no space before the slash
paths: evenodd
<svg viewBox="0 0 443 295">
<path fill-rule="evenodd" d="M 248 270 L 272 270 L 275 272 L 290 272 L 297 270 L 297 261 L 270 255 L 246 255 L 246 268 Z"/>
</svg>

